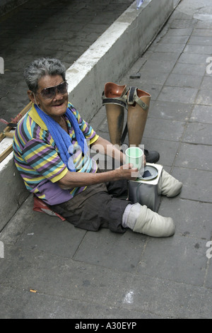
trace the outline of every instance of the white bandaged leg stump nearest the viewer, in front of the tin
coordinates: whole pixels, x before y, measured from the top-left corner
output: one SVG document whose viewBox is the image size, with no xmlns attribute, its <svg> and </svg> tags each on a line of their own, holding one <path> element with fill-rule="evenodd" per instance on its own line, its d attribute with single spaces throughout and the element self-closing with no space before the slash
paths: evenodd
<svg viewBox="0 0 212 333">
<path fill-rule="evenodd" d="M 129 214 L 129 219 L 133 218 L 132 214 Z M 175 233 L 175 224 L 172 218 L 164 218 L 146 205 L 140 205 L 133 231 L 152 237 L 170 237 Z"/>
</svg>

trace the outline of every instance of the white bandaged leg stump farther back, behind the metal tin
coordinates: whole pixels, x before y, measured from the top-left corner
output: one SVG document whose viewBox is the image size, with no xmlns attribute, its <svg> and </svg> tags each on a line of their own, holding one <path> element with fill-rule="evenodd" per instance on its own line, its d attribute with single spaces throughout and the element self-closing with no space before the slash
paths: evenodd
<svg viewBox="0 0 212 333">
<path fill-rule="evenodd" d="M 182 183 L 177 181 L 173 176 L 167 173 L 163 169 L 163 174 L 161 176 L 161 183 L 160 183 L 160 191 L 163 196 L 167 196 L 168 198 L 172 198 L 177 196 L 181 191 Z"/>
</svg>

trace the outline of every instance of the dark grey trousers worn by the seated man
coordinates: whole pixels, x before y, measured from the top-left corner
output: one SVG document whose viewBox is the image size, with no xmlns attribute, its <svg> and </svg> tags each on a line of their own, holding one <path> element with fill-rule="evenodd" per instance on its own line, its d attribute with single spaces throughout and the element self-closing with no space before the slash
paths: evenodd
<svg viewBox="0 0 212 333">
<path fill-rule="evenodd" d="M 122 215 L 129 204 L 127 194 L 128 182 L 114 181 L 87 186 L 71 200 L 49 207 L 75 227 L 90 231 L 107 227 L 112 232 L 123 233 L 126 229 L 122 227 Z"/>
</svg>

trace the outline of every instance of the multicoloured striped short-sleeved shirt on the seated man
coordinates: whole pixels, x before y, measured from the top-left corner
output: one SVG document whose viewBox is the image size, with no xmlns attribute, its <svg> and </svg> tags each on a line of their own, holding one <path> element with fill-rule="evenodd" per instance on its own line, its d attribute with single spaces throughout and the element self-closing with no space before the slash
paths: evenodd
<svg viewBox="0 0 212 333">
<path fill-rule="evenodd" d="M 68 103 L 68 107 L 78 120 L 78 125 L 86 137 L 89 147 L 98 140 L 98 135 L 81 118 L 71 103 Z M 82 150 L 78 149 L 76 135 L 68 118 L 66 118 L 66 122 L 75 152 L 73 164 L 76 171 L 95 173 L 98 169 L 96 162 L 90 158 L 89 154 L 84 156 Z M 68 168 L 62 162 L 52 135 L 50 135 L 34 105 L 17 125 L 13 140 L 13 156 L 28 191 L 35 193 L 38 198 L 49 205 L 68 201 L 86 188 L 84 186 L 62 190 L 57 185 L 57 181 L 66 175 Z"/>
</svg>

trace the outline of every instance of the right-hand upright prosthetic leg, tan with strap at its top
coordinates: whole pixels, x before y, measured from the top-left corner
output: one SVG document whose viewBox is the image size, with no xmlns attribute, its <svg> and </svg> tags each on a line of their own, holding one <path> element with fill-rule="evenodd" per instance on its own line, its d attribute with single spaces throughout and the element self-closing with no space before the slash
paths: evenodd
<svg viewBox="0 0 212 333">
<path fill-rule="evenodd" d="M 127 128 L 129 137 L 129 147 L 141 145 L 143 132 L 148 116 L 148 108 L 151 101 L 151 95 L 146 91 L 132 86 L 127 94 Z"/>
</svg>

